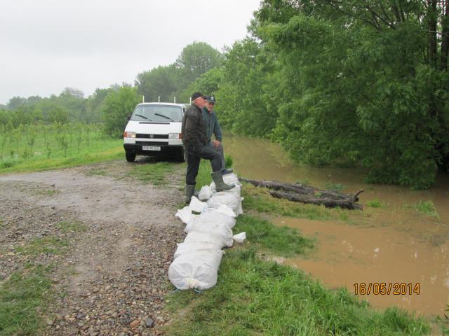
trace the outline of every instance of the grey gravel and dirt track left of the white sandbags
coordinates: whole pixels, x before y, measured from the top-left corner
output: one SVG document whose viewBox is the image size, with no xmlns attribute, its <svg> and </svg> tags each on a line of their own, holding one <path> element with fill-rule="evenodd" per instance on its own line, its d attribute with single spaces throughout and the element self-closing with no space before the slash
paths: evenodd
<svg viewBox="0 0 449 336">
<path fill-rule="evenodd" d="M 46 335 L 158 335 L 169 323 L 163 295 L 183 235 L 174 217 L 180 175 L 156 188 L 129 177 L 132 166 L 0 176 L 0 280 L 24 262 L 55 265 Z M 67 247 L 20 252 L 45 237 Z"/>
</svg>

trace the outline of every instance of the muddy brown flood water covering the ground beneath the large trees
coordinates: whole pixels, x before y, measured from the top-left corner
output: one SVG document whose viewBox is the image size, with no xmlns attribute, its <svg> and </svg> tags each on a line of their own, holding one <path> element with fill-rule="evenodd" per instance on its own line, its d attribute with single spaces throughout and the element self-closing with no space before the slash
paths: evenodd
<svg viewBox="0 0 449 336">
<path fill-rule="evenodd" d="M 273 218 L 276 225 L 296 228 L 315 240 L 307 255 L 280 262 L 302 269 L 328 288 L 357 290 L 358 297 L 373 307 L 396 306 L 429 317 L 443 314 L 449 304 L 447 174 L 438 176 L 434 188 L 413 191 L 363 183 L 363 172 L 356 169 L 297 167 L 281 146 L 261 139 L 226 134 L 223 144 L 236 171 L 248 179 L 305 181 L 316 188 L 339 183 L 345 193 L 366 190 L 360 195 L 361 204 L 382 202 L 380 208 L 365 207 L 366 216 L 356 223 Z M 439 218 L 410 207 L 429 200 Z M 361 295 L 363 288 L 370 294 Z"/>
</svg>

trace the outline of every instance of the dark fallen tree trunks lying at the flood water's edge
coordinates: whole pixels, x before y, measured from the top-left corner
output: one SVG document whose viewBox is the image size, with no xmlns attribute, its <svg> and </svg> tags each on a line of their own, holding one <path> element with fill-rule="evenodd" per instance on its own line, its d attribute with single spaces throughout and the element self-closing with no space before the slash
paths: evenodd
<svg viewBox="0 0 449 336">
<path fill-rule="evenodd" d="M 279 181 L 258 181 L 250 179 L 239 180 L 251 183 L 256 187 L 272 189 L 269 193 L 273 197 L 285 198 L 286 200 L 293 202 L 324 205 L 325 207 L 342 207 L 344 209 L 363 209 L 361 204 L 355 204 L 355 202 L 358 201 L 358 195 L 363 193 L 363 190 L 351 195 L 337 193 L 333 190 L 321 190 L 311 186 L 304 186 L 299 183 L 282 183 Z"/>
</svg>

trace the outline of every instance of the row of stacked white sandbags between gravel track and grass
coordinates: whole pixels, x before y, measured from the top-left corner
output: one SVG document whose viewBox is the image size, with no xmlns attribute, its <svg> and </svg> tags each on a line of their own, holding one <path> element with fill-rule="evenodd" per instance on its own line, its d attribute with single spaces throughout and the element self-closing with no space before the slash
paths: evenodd
<svg viewBox="0 0 449 336">
<path fill-rule="evenodd" d="M 177 289 L 202 290 L 215 286 L 224 253 L 222 248 L 231 247 L 234 240 L 243 242 L 245 239 L 245 232 L 235 236 L 232 232 L 236 216 L 243 213 L 241 183 L 236 174 L 227 174 L 223 180 L 234 183 L 235 188 L 217 193 L 215 183 L 204 186 L 199 199 L 192 197 L 189 206 L 175 215 L 186 224 L 187 233 L 184 242 L 177 244 L 174 260 L 168 268 L 168 278 Z"/>
</svg>

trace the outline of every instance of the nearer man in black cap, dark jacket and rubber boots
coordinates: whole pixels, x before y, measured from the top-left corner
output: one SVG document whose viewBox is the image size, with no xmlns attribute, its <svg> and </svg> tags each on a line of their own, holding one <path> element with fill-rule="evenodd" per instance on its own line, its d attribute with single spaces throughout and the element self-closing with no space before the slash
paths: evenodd
<svg viewBox="0 0 449 336">
<path fill-rule="evenodd" d="M 234 188 L 223 181 L 221 158 L 212 147 L 207 146 L 206 129 L 203 122 L 202 109 L 206 104 L 206 96 L 201 92 L 192 94 L 192 105 L 182 118 L 182 143 L 187 153 L 187 174 L 185 176 L 185 202 L 189 203 L 195 193 L 196 176 L 201 158 L 209 160 L 212 166 L 212 179 L 217 191 Z"/>
</svg>

